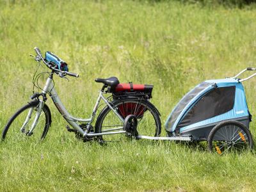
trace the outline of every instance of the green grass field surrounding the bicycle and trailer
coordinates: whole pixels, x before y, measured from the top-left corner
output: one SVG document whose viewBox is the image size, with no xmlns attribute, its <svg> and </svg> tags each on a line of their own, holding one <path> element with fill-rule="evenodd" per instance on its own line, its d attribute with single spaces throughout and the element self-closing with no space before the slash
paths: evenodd
<svg viewBox="0 0 256 192">
<path fill-rule="evenodd" d="M 33 47 L 67 61 L 78 79 L 56 77 L 72 115 L 90 116 L 96 77 L 154 84 L 162 125 L 179 99 L 205 79 L 255 67 L 256 7 L 177 1 L 0 1 L 0 127 L 28 102 Z M 40 68 L 40 71 L 47 71 Z M 45 76 L 46 77 L 46 76 Z M 44 78 L 40 83 L 44 83 Z M 244 83 L 256 115 L 255 83 Z M 170 142 L 77 141 L 51 100 L 43 143 L 0 145 L 0 191 L 255 191 L 255 152 L 210 154 Z M 256 139 L 255 120 L 251 124 Z M 163 133 L 164 136 L 164 127 Z"/>
</svg>

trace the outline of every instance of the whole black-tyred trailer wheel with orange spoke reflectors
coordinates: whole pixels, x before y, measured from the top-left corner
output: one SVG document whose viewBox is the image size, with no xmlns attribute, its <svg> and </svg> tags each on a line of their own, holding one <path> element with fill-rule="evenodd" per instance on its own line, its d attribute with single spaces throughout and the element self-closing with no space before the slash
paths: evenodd
<svg viewBox="0 0 256 192">
<path fill-rule="evenodd" d="M 250 130 L 237 121 L 224 121 L 216 125 L 210 132 L 207 141 L 208 149 L 220 155 L 253 148 Z"/>
</svg>

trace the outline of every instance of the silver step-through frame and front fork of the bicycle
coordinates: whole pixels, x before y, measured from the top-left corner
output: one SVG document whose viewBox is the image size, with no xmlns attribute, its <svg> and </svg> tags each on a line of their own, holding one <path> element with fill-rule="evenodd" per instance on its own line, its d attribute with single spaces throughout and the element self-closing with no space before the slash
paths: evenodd
<svg viewBox="0 0 256 192">
<path fill-rule="evenodd" d="M 52 77 L 53 77 L 53 72 L 47 78 L 47 81 L 45 83 L 44 89 L 42 90 L 42 95 L 46 95 L 47 93 L 49 93 L 49 95 L 52 98 L 52 101 L 54 102 L 54 104 L 55 104 L 56 108 L 58 109 L 58 111 L 60 111 L 60 113 L 63 116 L 63 118 L 65 118 L 65 120 L 68 122 L 68 124 L 70 124 L 74 129 L 76 129 L 76 131 L 79 132 L 79 134 L 81 134 L 84 137 L 85 136 L 91 137 L 91 136 L 100 136 L 100 135 L 106 135 L 106 134 L 120 134 L 120 133 L 125 133 L 126 132 L 126 131 L 118 131 L 118 130 L 123 129 L 123 127 L 116 127 L 116 128 L 112 128 L 112 129 L 106 129 L 106 130 L 104 130 L 104 132 L 101 132 L 101 133 L 94 133 L 94 132 L 88 133 L 88 131 L 90 130 L 90 125 L 92 124 L 93 119 L 95 118 L 96 111 L 97 111 L 97 108 L 99 106 L 99 103 L 100 103 L 101 99 L 115 113 L 115 115 L 120 119 L 120 121 L 122 123 L 124 123 L 124 118 L 122 118 L 122 116 L 119 115 L 119 113 L 116 111 L 116 109 L 114 109 L 111 106 L 111 104 L 108 102 L 108 100 L 103 96 L 104 87 L 99 92 L 99 97 L 98 97 L 98 99 L 97 99 L 97 101 L 95 103 L 95 106 L 93 108 L 92 115 L 91 115 L 90 118 L 76 118 L 76 117 L 70 115 L 70 113 L 68 113 L 67 109 L 65 108 L 65 106 L 61 102 L 60 97 L 58 97 L 58 93 L 54 89 L 54 85 L 52 84 Z M 35 126 L 36 126 L 36 124 L 38 122 L 38 118 L 40 116 L 40 113 L 42 112 L 42 108 L 43 107 L 44 107 L 44 101 L 40 100 L 40 104 L 38 105 L 38 111 L 36 113 L 35 120 L 33 122 L 33 125 L 31 127 L 31 130 L 29 131 L 29 133 L 32 133 L 33 129 L 35 129 Z M 29 111 L 29 113 L 30 112 L 31 111 Z M 28 117 L 27 117 L 28 120 L 29 120 L 29 116 L 30 115 L 31 114 L 28 114 Z M 86 122 L 87 123 L 86 131 L 81 129 L 81 127 L 79 126 L 79 124 L 77 124 L 77 122 Z M 24 123 L 24 126 L 25 126 L 25 124 L 27 124 L 26 121 Z M 24 126 L 22 126 L 22 127 L 24 127 Z"/>
</svg>

